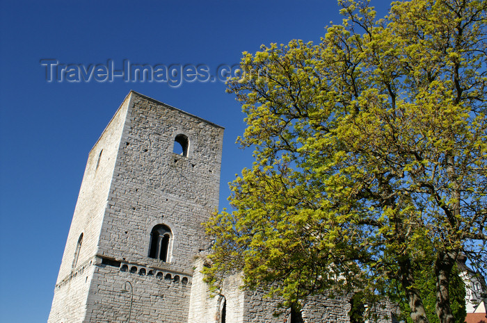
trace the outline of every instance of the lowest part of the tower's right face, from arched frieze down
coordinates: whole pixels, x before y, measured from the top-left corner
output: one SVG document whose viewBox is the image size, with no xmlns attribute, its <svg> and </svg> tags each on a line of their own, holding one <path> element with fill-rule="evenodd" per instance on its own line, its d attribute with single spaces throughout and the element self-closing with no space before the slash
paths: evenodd
<svg viewBox="0 0 487 323">
<path fill-rule="evenodd" d="M 113 322 L 186 322 L 191 277 L 137 267 L 97 263 L 90 285 L 86 321 Z M 128 282 L 128 283 L 127 283 Z"/>
</svg>

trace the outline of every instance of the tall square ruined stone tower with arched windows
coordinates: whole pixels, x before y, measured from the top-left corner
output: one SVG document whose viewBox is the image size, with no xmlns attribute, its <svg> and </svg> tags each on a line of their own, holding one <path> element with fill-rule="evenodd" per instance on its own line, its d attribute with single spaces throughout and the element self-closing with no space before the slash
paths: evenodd
<svg viewBox="0 0 487 323">
<path fill-rule="evenodd" d="M 221 126 L 127 95 L 88 155 L 48 322 L 188 320 L 222 141 Z"/>
</svg>

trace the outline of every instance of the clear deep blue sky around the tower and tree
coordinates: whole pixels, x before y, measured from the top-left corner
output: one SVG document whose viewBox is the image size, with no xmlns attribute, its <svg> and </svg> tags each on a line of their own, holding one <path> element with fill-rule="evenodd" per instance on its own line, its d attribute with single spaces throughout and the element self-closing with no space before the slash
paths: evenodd
<svg viewBox="0 0 487 323">
<path fill-rule="evenodd" d="M 388 3 L 372 0 L 382 14 Z M 129 90 L 225 127 L 220 208 L 252 162 L 234 144 L 244 116 L 221 82 L 48 83 L 41 59 L 214 72 L 261 44 L 319 42 L 338 10 L 335 0 L 1 1 L 0 321 L 47 321 L 88 151 Z"/>
</svg>

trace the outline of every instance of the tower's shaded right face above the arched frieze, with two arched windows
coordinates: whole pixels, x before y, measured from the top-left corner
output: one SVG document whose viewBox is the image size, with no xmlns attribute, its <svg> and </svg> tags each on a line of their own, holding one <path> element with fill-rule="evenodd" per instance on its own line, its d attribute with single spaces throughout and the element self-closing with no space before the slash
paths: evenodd
<svg viewBox="0 0 487 323">
<path fill-rule="evenodd" d="M 210 244 L 202 222 L 218 208 L 223 128 L 141 94 L 132 96 L 99 255 L 192 272 L 193 257 Z M 178 134 L 189 138 L 187 156 L 173 153 Z M 157 224 L 173 233 L 169 262 L 148 257 Z"/>
</svg>

